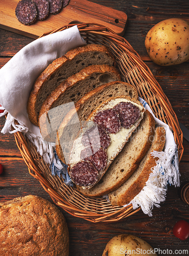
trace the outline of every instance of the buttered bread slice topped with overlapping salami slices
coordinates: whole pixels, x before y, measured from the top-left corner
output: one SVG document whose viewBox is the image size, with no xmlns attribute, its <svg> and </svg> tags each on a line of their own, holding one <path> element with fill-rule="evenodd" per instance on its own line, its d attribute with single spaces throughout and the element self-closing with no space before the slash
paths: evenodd
<svg viewBox="0 0 189 256">
<path fill-rule="evenodd" d="M 101 180 L 143 119 L 144 112 L 144 106 L 138 100 L 122 95 L 109 98 L 89 115 L 69 156 L 69 175 L 75 184 L 89 189 Z M 130 124 L 127 126 L 122 118 Z M 105 130 L 103 141 L 100 141 L 100 127 Z M 106 148 L 103 143 L 108 144 Z M 88 151 L 92 152 L 89 156 Z"/>
</svg>

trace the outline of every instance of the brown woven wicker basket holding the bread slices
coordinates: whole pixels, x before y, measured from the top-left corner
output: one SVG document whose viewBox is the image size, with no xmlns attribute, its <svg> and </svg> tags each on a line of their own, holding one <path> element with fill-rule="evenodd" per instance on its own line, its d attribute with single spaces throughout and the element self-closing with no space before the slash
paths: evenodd
<svg viewBox="0 0 189 256">
<path fill-rule="evenodd" d="M 86 41 L 88 40 L 87 43 L 91 43 L 90 42 L 91 40 L 97 40 L 100 43 L 104 44 L 104 41 L 102 40 L 105 40 L 105 44 L 108 44 L 110 48 L 113 49 L 116 46 L 116 51 L 122 51 L 123 53 L 126 53 L 127 58 L 131 60 L 134 70 L 137 70 L 138 72 L 136 79 L 138 79 L 139 83 L 141 80 L 142 81 L 141 84 L 144 83 L 145 87 L 143 88 L 143 86 L 139 86 L 140 88 L 138 88 L 138 86 L 136 86 L 138 81 L 136 81 L 135 78 L 132 78 L 131 79 L 132 83 L 131 82 L 130 83 L 133 84 L 133 86 L 135 86 L 135 88 L 138 91 L 138 95 L 141 98 L 144 98 L 147 101 L 147 103 L 151 106 L 151 109 L 155 114 L 155 116 L 160 120 L 162 120 L 163 122 L 166 122 L 170 126 L 171 130 L 173 131 L 174 139 L 178 147 L 178 156 L 180 161 L 183 154 L 183 145 L 182 145 L 183 135 L 180 130 L 180 126 L 179 126 L 176 114 L 172 109 L 169 99 L 163 93 L 161 87 L 159 86 L 158 82 L 154 78 L 148 66 L 143 62 L 143 60 L 140 58 L 138 53 L 132 48 L 132 46 L 129 44 L 129 42 L 125 38 L 117 35 L 115 32 L 113 32 L 109 28 L 106 28 L 105 26 L 102 26 L 100 24 L 90 24 L 90 23 L 68 24 L 61 28 L 58 28 L 57 30 L 42 34 L 40 37 L 43 37 L 48 34 L 56 33 L 58 31 L 63 31 L 75 25 L 78 26 L 81 36 L 85 37 Z M 124 65 L 124 61 L 120 62 L 121 66 L 122 64 Z M 126 70 L 124 70 L 124 72 L 125 71 Z M 126 73 L 128 73 L 128 71 Z M 155 94 L 153 100 L 151 98 L 150 99 L 148 98 L 149 91 L 150 91 L 149 84 L 150 84 L 150 90 L 153 92 L 153 95 Z M 164 114 L 167 114 L 167 115 L 164 116 Z M 140 207 L 134 210 L 132 205 L 129 205 L 126 207 L 123 207 L 123 206 L 113 207 L 109 204 L 107 206 L 108 202 L 106 201 L 105 203 L 105 199 L 101 199 L 101 198 L 100 199 L 89 198 L 91 200 L 89 201 L 90 202 L 89 204 L 91 203 L 93 204 L 91 209 L 93 209 L 93 207 L 98 208 L 97 202 L 99 203 L 99 201 L 100 201 L 100 204 L 105 204 L 104 206 L 105 211 L 102 210 L 103 213 L 100 213 L 98 211 L 96 212 L 95 210 L 91 210 L 91 209 L 86 210 L 81 207 L 77 207 L 74 201 L 70 203 L 68 200 L 66 200 L 65 197 L 64 198 L 62 197 L 62 194 L 60 193 L 61 191 L 58 191 L 57 189 L 54 188 L 53 182 L 51 181 L 51 179 L 54 177 L 52 177 L 51 175 L 50 168 L 44 162 L 41 156 L 39 156 L 33 144 L 31 144 L 30 141 L 20 132 L 15 133 L 14 136 L 15 136 L 16 144 L 22 155 L 22 158 L 23 160 L 25 160 L 25 163 L 28 166 L 30 175 L 32 175 L 34 178 L 36 178 L 40 182 L 41 186 L 51 196 L 54 203 L 57 206 L 60 206 L 70 215 L 85 219 L 90 222 L 114 222 L 114 221 L 118 221 L 123 218 L 129 217 L 135 214 L 135 212 L 140 210 Z M 60 179 L 56 179 L 55 183 L 62 184 L 62 181 Z M 67 187 L 66 185 L 63 185 L 63 194 L 66 195 L 66 193 L 68 193 L 70 189 L 71 188 Z M 69 193 L 72 197 L 73 191 L 70 190 Z M 85 198 L 83 200 L 85 200 Z"/>
</svg>

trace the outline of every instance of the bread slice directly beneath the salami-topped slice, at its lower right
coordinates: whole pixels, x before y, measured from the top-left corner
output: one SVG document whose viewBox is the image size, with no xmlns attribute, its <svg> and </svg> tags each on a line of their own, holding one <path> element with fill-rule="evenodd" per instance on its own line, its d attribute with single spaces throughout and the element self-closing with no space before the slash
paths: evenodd
<svg viewBox="0 0 189 256">
<path fill-rule="evenodd" d="M 99 197 L 119 188 L 136 170 L 140 161 L 146 155 L 152 142 L 155 121 L 152 114 L 146 110 L 144 118 L 116 156 L 100 182 L 90 189 L 77 189 L 86 196 Z"/>
</svg>

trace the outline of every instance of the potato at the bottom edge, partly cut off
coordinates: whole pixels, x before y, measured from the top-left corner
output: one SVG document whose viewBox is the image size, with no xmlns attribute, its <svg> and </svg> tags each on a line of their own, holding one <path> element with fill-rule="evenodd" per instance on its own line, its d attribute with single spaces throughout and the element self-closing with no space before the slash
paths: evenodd
<svg viewBox="0 0 189 256">
<path fill-rule="evenodd" d="M 147 242 L 131 234 L 119 234 L 113 237 L 107 243 L 102 256 L 121 256 L 122 254 L 124 254 L 124 256 L 157 256 L 154 249 Z"/>
</svg>

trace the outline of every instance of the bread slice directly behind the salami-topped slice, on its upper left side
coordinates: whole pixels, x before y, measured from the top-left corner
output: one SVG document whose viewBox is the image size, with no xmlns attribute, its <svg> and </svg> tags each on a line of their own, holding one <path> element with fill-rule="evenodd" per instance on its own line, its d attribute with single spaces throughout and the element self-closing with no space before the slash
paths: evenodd
<svg viewBox="0 0 189 256">
<path fill-rule="evenodd" d="M 110 97 L 121 95 L 138 99 L 138 93 L 131 84 L 113 81 L 88 92 L 75 103 L 75 107 L 66 114 L 57 132 L 56 152 L 62 162 L 68 163 L 72 143 L 90 113 Z"/>
</svg>

